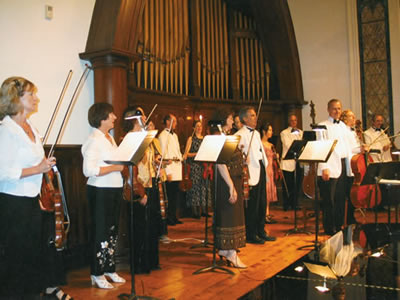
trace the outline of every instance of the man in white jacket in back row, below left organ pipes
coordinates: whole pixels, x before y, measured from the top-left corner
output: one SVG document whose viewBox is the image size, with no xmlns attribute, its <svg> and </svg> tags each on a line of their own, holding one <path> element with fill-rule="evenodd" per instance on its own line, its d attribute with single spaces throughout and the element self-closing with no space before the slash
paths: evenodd
<svg viewBox="0 0 400 300">
<path fill-rule="evenodd" d="M 163 160 L 167 162 L 167 166 L 165 167 L 168 196 L 167 224 L 173 226 L 182 224 L 182 221 L 176 217 L 177 204 L 179 203 L 179 181 L 182 180 L 182 153 L 178 136 L 174 132 L 177 126 L 176 117 L 173 114 L 166 115 L 164 117 L 164 125 L 165 129 L 160 133 L 158 139 L 161 145 Z"/>
</svg>

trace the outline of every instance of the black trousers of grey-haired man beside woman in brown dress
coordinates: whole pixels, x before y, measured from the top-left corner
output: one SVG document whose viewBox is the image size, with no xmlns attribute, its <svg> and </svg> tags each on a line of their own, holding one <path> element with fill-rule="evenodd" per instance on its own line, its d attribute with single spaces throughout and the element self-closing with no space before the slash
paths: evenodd
<svg viewBox="0 0 400 300">
<path fill-rule="evenodd" d="M 245 208 L 246 237 L 253 239 L 265 234 L 265 214 L 267 209 L 265 166 L 260 160 L 260 178 L 257 185 L 250 186 L 250 199 Z"/>
</svg>

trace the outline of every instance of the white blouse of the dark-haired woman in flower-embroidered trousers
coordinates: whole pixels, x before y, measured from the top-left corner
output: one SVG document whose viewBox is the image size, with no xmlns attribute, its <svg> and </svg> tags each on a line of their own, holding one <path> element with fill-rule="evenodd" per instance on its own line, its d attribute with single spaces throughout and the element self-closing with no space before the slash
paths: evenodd
<svg viewBox="0 0 400 300">
<path fill-rule="evenodd" d="M 94 128 L 92 134 L 82 145 L 83 174 L 88 178 L 87 184 L 95 187 L 122 187 L 121 172 L 115 171 L 98 176 L 100 167 L 110 166 L 105 160 L 111 160 L 117 144 L 111 137 L 112 144 L 103 132 Z"/>
</svg>

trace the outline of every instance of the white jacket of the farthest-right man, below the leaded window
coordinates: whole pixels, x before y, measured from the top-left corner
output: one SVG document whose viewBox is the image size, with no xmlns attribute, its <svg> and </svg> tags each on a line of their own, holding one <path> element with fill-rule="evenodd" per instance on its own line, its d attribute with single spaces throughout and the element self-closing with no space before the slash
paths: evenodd
<svg viewBox="0 0 400 300">
<path fill-rule="evenodd" d="M 375 141 L 371 145 L 371 149 L 380 151 L 380 153 L 370 153 L 374 162 L 392 161 L 390 149 L 383 151 L 383 147 L 390 144 L 390 139 L 386 133 L 382 132 L 383 131 L 376 131 L 375 128 L 372 127 L 364 131 L 365 144 L 370 145 L 373 141 Z M 382 135 L 379 136 L 381 133 Z"/>
</svg>

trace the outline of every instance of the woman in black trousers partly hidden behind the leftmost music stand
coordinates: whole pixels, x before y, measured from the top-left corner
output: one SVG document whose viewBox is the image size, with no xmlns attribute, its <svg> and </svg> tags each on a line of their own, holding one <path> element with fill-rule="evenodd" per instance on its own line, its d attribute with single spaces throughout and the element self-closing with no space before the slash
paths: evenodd
<svg viewBox="0 0 400 300">
<path fill-rule="evenodd" d="M 132 114 L 141 118 L 139 122 L 137 118 L 125 120 L 126 115 Z M 140 132 L 144 128 L 142 124 L 146 123 L 146 116 L 141 107 L 128 107 L 124 114 L 122 128 L 124 132 Z M 154 130 L 152 123 L 148 124 L 149 130 Z M 144 196 L 139 195 L 139 201 L 133 203 L 133 222 L 134 222 L 134 265 L 135 273 L 150 273 L 152 270 L 160 269 L 159 262 L 159 238 L 161 236 L 161 207 L 160 192 L 157 182 L 157 163 L 160 159 L 159 147 L 156 141 L 147 148 L 142 160 L 137 166 L 137 177 L 134 178 L 134 189 L 140 185 L 140 189 L 144 189 Z M 136 191 L 134 191 L 136 192 Z M 165 211 L 165 209 L 164 209 Z"/>
</svg>

